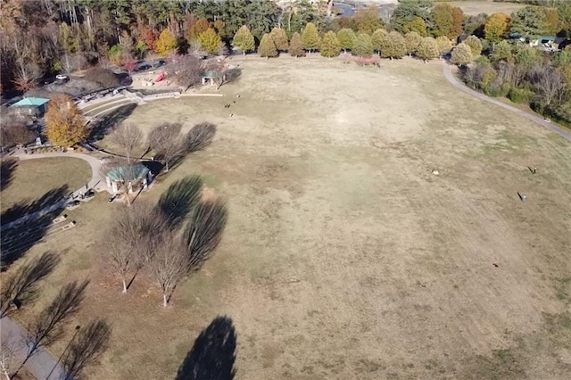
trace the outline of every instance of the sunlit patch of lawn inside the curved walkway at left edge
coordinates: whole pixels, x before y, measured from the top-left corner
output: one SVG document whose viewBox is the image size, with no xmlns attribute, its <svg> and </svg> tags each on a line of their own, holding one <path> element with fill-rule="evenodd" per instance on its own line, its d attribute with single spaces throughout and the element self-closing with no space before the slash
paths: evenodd
<svg viewBox="0 0 571 380">
<path fill-rule="evenodd" d="M 46 158 L 18 161 L 9 184 L 2 186 L 2 211 L 18 202 L 33 201 L 48 191 L 68 186 L 75 191 L 91 179 L 86 161 L 76 158 Z"/>
</svg>

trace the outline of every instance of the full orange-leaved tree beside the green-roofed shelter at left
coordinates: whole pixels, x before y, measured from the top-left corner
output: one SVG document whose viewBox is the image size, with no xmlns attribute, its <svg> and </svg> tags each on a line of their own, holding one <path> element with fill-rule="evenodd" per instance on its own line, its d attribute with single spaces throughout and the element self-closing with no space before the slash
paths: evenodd
<svg viewBox="0 0 571 380">
<path fill-rule="evenodd" d="M 76 145 L 87 138 L 85 118 L 70 96 L 57 95 L 48 104 L 46 135 L 60 146 Z"/>
</svg>

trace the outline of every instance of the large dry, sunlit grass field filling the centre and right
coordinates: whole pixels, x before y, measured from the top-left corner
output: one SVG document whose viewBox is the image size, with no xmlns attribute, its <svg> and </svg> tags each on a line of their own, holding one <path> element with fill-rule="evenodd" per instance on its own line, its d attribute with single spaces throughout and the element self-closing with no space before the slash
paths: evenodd
<svg viewBox="0 0 571 380">
<path fill-rule="evenodd" d="M 157 101 L 128 118 L 218 125 L 206 151 L 142 195 L 202 174 L 228 199 L 211 260 L 167 310 L 145 274 L 121 294 L 99 240 L 119 205 L 98 194 L 70 212 L 65 238 L 27 253 L 54 249 L 62 264 L 16 318 L 90 278 L 68 339 L 76 321 L 112 323 L 93 379 L 173 378 L 219 315 L 236 327 L 236 379 L 567 378 L 567 141 L 451 87 L 441 62 L 233 62 L 243 77 L 223 98 Z"/>
</svg>

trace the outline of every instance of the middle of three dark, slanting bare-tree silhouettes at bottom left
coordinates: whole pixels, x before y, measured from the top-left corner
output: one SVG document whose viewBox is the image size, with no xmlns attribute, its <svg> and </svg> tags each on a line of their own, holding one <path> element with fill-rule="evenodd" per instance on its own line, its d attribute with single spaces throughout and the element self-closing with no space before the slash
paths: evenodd
<svg viewBox="0 0 571 380">
<path fill-rule="evenodd" d="M 50 345 L 62 335 L 62 323 L 79 310 L 89 281 L 64 285 L 59 293 L 29 325 L 28 354 L 19 370 L 40 345 Z M 17 371 L 16 371 L 17 372 Z"/>
</svg>

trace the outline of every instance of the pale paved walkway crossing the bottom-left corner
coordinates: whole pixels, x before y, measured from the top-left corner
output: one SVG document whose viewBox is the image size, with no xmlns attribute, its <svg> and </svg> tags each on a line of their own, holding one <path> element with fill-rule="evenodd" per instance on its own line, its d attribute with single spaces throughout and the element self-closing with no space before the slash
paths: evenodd
<svg viewBox="0 0 571 380">
<path fill-rule="evenodd" d="M 12 319 L 7 317 L 0 319 L 0 339 L 15 357 L 12 370 L 16 370 L 18 368 L 16 366 L 20 366 L 28 355 L 27 337 L 26 331 Z M 62 364 L 41 346 L 26 361 L 24 368 L 38 380 L 66 379 Z"/>
</svg>

